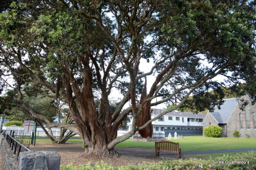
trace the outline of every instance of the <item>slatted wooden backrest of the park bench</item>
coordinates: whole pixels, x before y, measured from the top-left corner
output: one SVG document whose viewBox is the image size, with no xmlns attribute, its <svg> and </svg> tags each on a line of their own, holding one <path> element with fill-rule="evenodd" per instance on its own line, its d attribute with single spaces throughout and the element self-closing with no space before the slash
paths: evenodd
<svg viewBox="0 0 256 170">
<path fill-rule="evenodd" d="M 158 151 L 178 152 L 179 143 L 169 141 L 155 142 L 155 149 L 157 149 Z"/>
</svg>

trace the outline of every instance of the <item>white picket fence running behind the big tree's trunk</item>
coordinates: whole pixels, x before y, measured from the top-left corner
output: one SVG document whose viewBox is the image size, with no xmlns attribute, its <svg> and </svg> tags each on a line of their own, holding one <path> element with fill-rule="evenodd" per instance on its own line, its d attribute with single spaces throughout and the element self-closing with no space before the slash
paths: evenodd
<svg viewBox="0 0 256 170">
<path fill-rule="evenodd" d="M 6 130 L 8 128 L 8 130 L 14 130 L 14 131 L 23 131 L 24 128 L 23 127 L 18 127 L 18 126 L 3 126 L 3 130 Z M 49 132 L 48 128 L 45 127 L 45 129 Z M 60 137 L 60 128 L 57 127 L 53 127 L 52 129 L 52 133 L 54 137 Z M 69 132 L 69 130 L 66 131 L 66 134 Z M 117 136 L 122 136 L 127 134 L 129 131 L 125 131 L 125 130 L 118 130 L 117 131 Z M 32 132 L 31 132 L 32 133 Z M 37 127 L 37 135 L 36 137 L 47 137 L 47 135 L 45 134 L 44 130 L 41 127 Z M 74 137 L 80 137 L 78 134 L 76 134 Z"/>
</svg>

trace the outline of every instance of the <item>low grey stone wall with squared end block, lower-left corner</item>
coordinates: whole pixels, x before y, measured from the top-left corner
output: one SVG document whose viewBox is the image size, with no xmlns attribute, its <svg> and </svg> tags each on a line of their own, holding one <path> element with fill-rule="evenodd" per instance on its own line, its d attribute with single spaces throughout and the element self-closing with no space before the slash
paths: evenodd
<svg viewBox="0 0 256 170">
<path fill-rule="evenodd" d="M 59 170 L 60 155 L 55 151 L 23 151 L 17 154 L 0 135 L 0 151 L 3 170 Z"/>
</svg>

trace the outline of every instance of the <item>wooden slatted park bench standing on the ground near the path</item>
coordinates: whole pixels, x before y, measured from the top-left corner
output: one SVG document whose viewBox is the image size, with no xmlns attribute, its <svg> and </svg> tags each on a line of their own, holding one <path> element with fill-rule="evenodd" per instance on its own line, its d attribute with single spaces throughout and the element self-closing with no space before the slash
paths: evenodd
<svg viewBox="0 0 256 170">
<path fill-rule="evenodd" d="M 179 143 L 169 141 L 155 142 L 155 157 L 159 157 L 159 152 L 177 153 L 178 159 L 181 158 L 181 148 L 179 148 Z"/>
</svg>

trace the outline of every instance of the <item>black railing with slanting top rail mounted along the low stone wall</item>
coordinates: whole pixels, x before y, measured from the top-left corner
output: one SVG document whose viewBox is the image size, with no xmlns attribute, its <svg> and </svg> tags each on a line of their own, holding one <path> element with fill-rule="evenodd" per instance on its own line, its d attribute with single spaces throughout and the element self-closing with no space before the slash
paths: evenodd
<svg viewBox="0 0 256 170">
<path fill-rule="evenodd" d="M 13 136 L 14 133 L 8 134 L 6 131 L 3 132 L 4 138 L 8 142 L 8 145 L 10 145 L 11 150 L 14 151 L 14 155 L 17 154 L 17 161 L 20 152 L 22 151 L 31 151 L 28 147 L 24 146 L 22 143 L 20 143 L 18 140 L 16 140 Z"/>
</svg>

